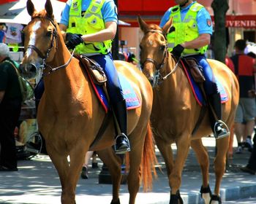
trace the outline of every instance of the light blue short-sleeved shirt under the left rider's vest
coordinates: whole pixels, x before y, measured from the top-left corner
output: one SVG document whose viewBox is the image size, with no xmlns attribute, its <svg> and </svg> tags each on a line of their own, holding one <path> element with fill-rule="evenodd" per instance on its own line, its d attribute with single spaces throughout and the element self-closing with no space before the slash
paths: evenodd
<svg viewBox="0 0 256 204">
<path fill-rule="evenodd" d="M 70 9 L 71 3 L 72 3 L 72 0 L 67 1 L 67 4 L 64 7 L 64 10 L 61 15 L 60 23 L 64 24 L 65 26 L 69 26 L 69 9 Z M 85 12 L 86 9 L 88 9 L 90 4 L 91 4 L 91 0 L 82 0 L 82 9 L 81 9 L 82 12 Z M 102 11 L 102 17 L 105 23 L 110 21 L 118 23 L 116 4 L 113 0 L 105 0 L 101 11 Z"/>
</svg>

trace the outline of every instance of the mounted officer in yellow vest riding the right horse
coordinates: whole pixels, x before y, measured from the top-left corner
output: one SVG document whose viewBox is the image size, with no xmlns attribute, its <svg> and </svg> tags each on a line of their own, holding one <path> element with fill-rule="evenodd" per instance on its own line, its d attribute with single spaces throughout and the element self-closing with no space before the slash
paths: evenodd
<svg viewBox="0 0 256 204">
<path fill-rule="evenodd" d="M 213 110 L 210 114 L 211 128 L 215 138 L 229 136 L 229 131 L 222 122 L 222 105 L 220 95 L 217 91 L 217 84 L 214 79 L 211 67 L 206 61 L 205 52 L 211 42 L 212 23 L 209 13 L 203 5 L 192 0 L 175 0 L 176 6 L 170 7 L 162 17 L 160 26 L 173 17 L 173 28 L 167 34 L 168 50 L 176 58 L 181 55 L 195 58 L 203 67 L 203 74 L 206 78 L 204 84 L 206 95 Z M 216 117 L 214 117 L 214 114 Z"/>
</svg>

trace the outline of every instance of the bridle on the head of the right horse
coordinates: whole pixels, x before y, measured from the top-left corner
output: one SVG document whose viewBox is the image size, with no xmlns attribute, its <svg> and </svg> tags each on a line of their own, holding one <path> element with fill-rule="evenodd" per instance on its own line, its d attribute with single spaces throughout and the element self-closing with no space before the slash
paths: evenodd
<svg viewBox="0 0 256 204">
<path fill-rule="evenodd" d="M 146 62 L 150 62 L 150 63 L 154 64 L 154 66 L 156 68 L 156 71 L 154 73 L 153 87 L 157 87 L 159 84 L 161 84 L 163 81 L 165 81 L 165 79 L 167 79 L 167 76 L 169 76 L 170 74 L 173 74 L 176 71 L 180 59 L 178 59 L 176 65 L 175 65 L 175 67 L 173 68 L 172 71 L 170 71 L 165 76 L 162 76 L 160 71 L 164 67 L 166 60 L 167 61 L 169 60 L 169 55 L 168 55 L 168 50 L 167 50 L 167 39 L 166 39 L 166 36 L 162 33 L 162 31 L 159 31 L 159 30 L 148 30 L 148 31 L 146 31 L 145 34 L 148 34 L 148 33 L 161 34 L 162 36 L 165 37 L 165 42 L 166 42 L 164 55 L 163 55 L 161 63 L 157 63 L 157 61 L 154 60 L 153 58 L 146 58 L 146 60 L 143 60 L 143 62 L 140 60 L 140 67 L 141 67 L 142 70 L 143 70 L 143 67 L 144 67 Z"/>
</svg>

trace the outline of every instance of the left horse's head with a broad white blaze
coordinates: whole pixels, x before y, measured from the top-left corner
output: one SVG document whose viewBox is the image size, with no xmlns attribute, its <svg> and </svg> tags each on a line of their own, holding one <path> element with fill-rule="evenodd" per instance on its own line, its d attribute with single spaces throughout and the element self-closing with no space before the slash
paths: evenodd
<svg viewBox="0 0 256 204">
<path fill-rule="evenodd" d="M 25 78 L 37 75 L 39 68 L 53 60 L 57 49 L 57 23 L 50 0 L 45 9 L 37 12 L 31 0 L 26 3 L 31 21 L 23 29 L 24 57 L 20 63 L 20 74 Z"/>
</svg>

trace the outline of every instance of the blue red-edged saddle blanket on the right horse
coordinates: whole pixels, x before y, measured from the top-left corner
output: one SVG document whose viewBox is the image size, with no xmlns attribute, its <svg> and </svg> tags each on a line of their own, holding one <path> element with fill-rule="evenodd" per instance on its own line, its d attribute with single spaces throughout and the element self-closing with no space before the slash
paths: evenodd
<svg viewBox="0 0 256 204">
<path fill-rule="evenodd" d="M 200 90 L 199 85 L 195 82 L 194 78 L 192 77 L 192 74 L 190 73 L 187 67 L 186 68 L 184 67 L 184 71 L 187 75 L 187 78 L 189 79 L 189 84 L 192 87 L 192 92 L 195 96 L 197 103 L 200 106 L 206 106 L 206 99 L 203 97 L 203 92 L 202 90 Z M 226 103 L 228 101 L 227 92 L 223 87 L 222 83 L 219 82 L 219 79 L 217 79 L 216 76 L 215 76 L 215 79 L 216 79 L 217 90 L 218 90 L 218 93 L 220 94 L 221 101 L 222 103 Z"/>
</svg>

